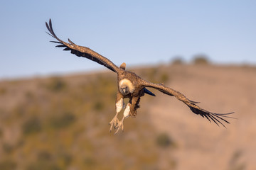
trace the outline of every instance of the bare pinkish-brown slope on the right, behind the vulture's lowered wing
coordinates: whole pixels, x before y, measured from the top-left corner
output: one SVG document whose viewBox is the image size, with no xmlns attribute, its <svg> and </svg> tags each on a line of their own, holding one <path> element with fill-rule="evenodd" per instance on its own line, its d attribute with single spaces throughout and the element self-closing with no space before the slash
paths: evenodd
<svg viewBox="0 0 256 170">
<path fill-rule="evenodd" d="M 256 69 L 176 66 L 169 74 L 169 86 L 200 101 L 206 110 L 235 111 L 238 118 L 230 120 L 227 129 L 218 128 L 179 101 L 161 94 L 154 98 L 151 122 L 156 131 L 166 132 L 178 143 L 178 149 L 165 153 L 174 155 L 177 169 L 256 169 Z"/>
</svg>

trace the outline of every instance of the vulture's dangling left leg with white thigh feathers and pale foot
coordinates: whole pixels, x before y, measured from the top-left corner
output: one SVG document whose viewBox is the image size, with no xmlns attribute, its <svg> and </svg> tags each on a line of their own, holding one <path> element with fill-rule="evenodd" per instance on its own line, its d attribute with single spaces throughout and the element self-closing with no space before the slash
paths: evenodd
<svg viewBox="0 0 256 170">
<path fill-rule="evenodd" d="M 122 108 L 124 108 L 124 97 L 122 96 L 122 94 L 119 93 L 119 91 L 117 92 L 117 99 L 116 99 L 116 114 L 114 115 L 114 118 L 110 121 L 109 125 L 110 125 L 110 132 L 112 130 L 112 128 L 116 128 L 116 126 L 119 123 L 119 120 L 117 118 L 118 113 L 122 110 Z"/>
</svg>

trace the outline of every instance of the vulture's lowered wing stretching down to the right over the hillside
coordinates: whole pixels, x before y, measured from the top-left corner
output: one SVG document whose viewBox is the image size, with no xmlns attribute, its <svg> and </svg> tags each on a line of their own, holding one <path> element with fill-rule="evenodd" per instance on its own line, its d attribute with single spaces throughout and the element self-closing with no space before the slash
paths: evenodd
<svg viewBox="0 0 256 170">
<path fill-rule="evenodd" d="M 212 113 L 210 111 L 206 111 L 203 108 L 200 108 L 199 106 L 196 105 L 196 103 L 198 103 L 198 102 L 189 100 L 188 98 L 186 98 L 186 96 L 184 96 L 180 92 L 175 91 L 174 89 L 171 89 L 169 87 L 166 87 L 166 86 L 164 86 L 164 84 L 153 84 L 153 83 L 144 81 L 143 85 L 146 87 L 152 87 L 154 89 L 157 89 L 157 90 L 161 91 L 162 93 L 167 94 L 169 96 L 175 96 L 178 100 L 185 103 L 191 109 L 191 111 L 193 111 L 193 113 L 196 113 L 197 115 L 201 115 L 203 118 L 207 118 L 209 121 L 213 120 L 213 122 L 216 123 L 217 125 L 218 125 L 218 123 L 220 123 L 221 125 L 223 125 L 225 127 L 225 125 L 221 121 L 224 121 L 225 123 L 229 123 L 224 118 L 232 118 L 232 117 L 228 116 L 232 113 L 222 113 L 221 114 L 221 113 Z"/>
</svg>

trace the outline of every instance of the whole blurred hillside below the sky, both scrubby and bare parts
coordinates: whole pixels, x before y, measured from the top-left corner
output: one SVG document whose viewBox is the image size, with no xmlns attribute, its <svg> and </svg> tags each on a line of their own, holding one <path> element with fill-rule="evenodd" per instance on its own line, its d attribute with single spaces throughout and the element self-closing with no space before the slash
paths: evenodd
<svg viewBox="0 0 256 170">
<path fill-rule="evenodd" d="M 129 68 L 128 68 L 129 69 Z M 227 129 L 171 96 L 144 96 L 114 135 L 112 72 L 0 81 L 0 169 L 256 169 L 256 68 L 174 64 L 132 69 L 206 110 L 235 111 Z M 121 117 L 121 114 L 120 114 Z"/>
</svg>

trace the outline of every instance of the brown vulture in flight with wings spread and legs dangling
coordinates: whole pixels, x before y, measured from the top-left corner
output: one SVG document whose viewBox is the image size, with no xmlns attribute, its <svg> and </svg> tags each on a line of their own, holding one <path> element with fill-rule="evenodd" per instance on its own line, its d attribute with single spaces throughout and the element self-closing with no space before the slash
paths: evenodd
<svg viewBox="0 0 256 170">
<path fill-rule="evenodd" d="M 57 43 L 55 47 L 64 47 L 63 50 L 70 51 L 72 54 L 78 56 L 78 57 L 85 57 L 89 60 L 92 60 L 93 62 L 97 62 L 98 64 L 102 64 L 103 66 L 107 67 L 107 69 L 110 69 L 112 72 L 115 72 L 117 74 L 117 97 L 115 102 L 115 110 L 116 113 L 114 115 L 114 118 L 110 121 L 110 132 L 114 129 L 116 129 L 116 132 L 114 134 L 117 134 L 120 130 L 124 130 L 124 119 L 129 117 L 136 117 L 137 115 L 137 109 L 140 107 L 139 102 L 142 96 L 145 94 L 150 96 L 156 96 L 153 94 L 149 89 L 146 88 L 153 88 L 158 91 L 161 91 L 161 93 L 164 93 L 169 96 L 174 96 L 179 101 L 182 101 L 183 103 L 190 108 L 190 110 L 193 113 L 196 113 L 196 115 L 201 115 L 203 118 L 206 118 L 210 122 L 213 121 L 215 124 L 219 126 L 223 125 L 225 127 L 225 123 L 229 123 L 228 120 L 225 118 L 233 118 L 230 117 L 231 113 L 213 113 L 210 111 L 206 111 L 203 108 L 200 108 L 197 104 L 199 102 L 191 101 L 190 99 L 186 98 L 183 94 L 181 94 L 179 91 L 176 91 L 174 89 L 169 88 L 168 86 L 165 86 L 164 84 L 155 84 L 151 83 L 149 81 L 146 81 L 139 77 L 134 72 L 129 72 L 126 70 L 126 63 L 122 63 L 119 67 L 117 67 L 116 64 L 111 62 L 106 57 L 103 57 L 99 53 L 91 50 L 89 47 L 83 47 L 80 45 L 76 45 L 74 42 L 72 42 L 68 38 L 68 42 L 65 42 L 63 40 L 60 40 L 58 38 L 54 31 L 52 26 L 51 19 L 49 20 L 49 23 L 46 22 L 46 28 L 48 29 L 49 33 L 48 35 L 55 38 L 54 42 Z M 124 104 L 124 98 L 128 98 L 129 102 L 127 103 L 127 106 Z M 119 120 L 117 118 L 117 115 L 122 111 L 124 108 L 124 113 L 122 120 Z"/>
</svg>

